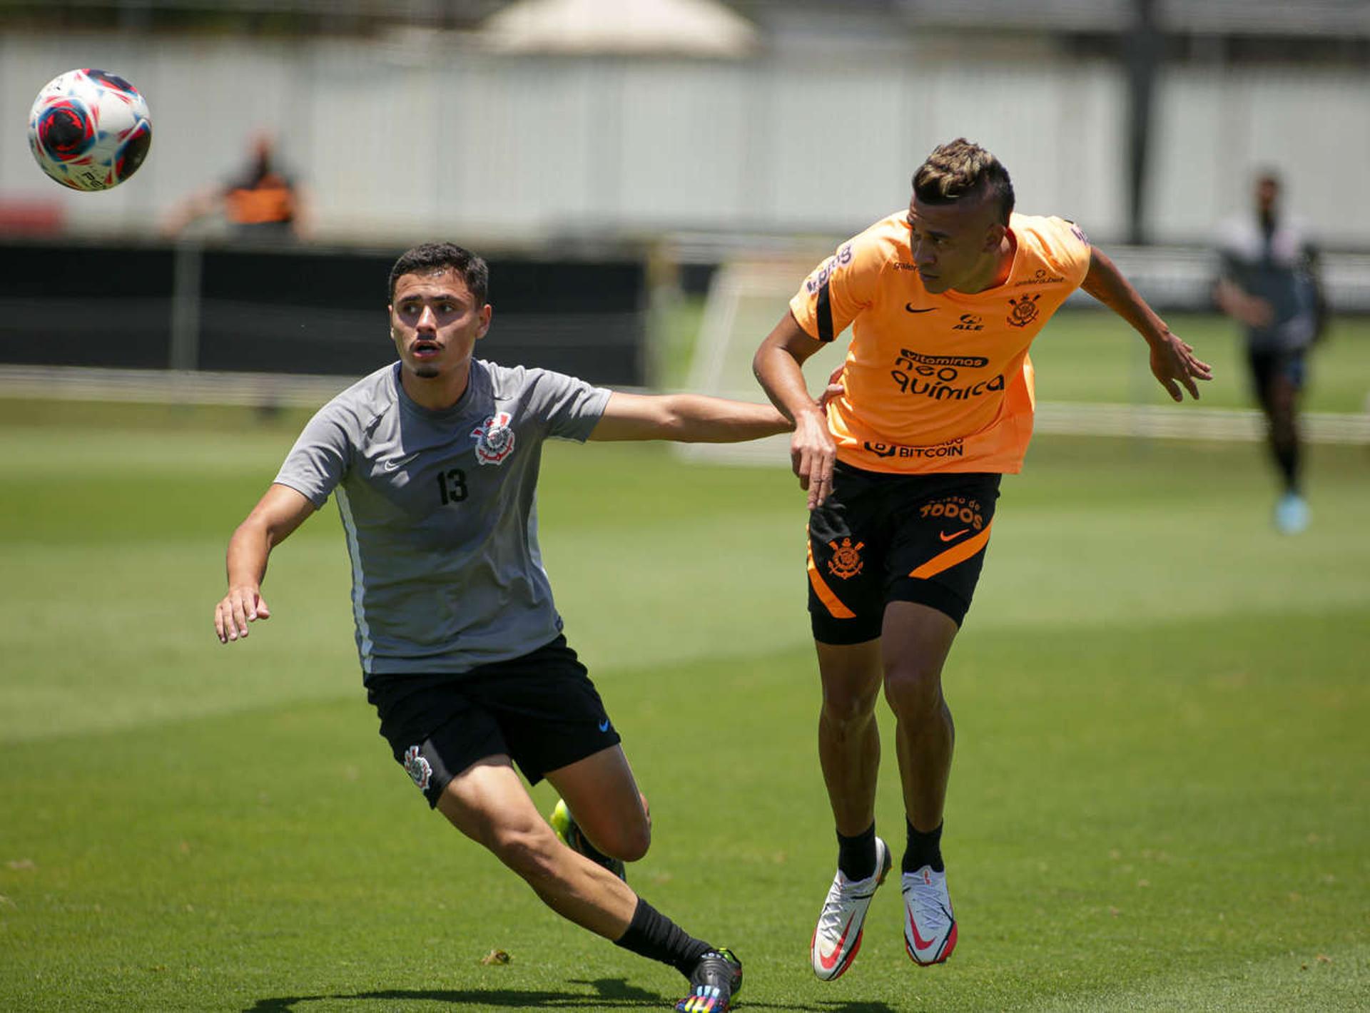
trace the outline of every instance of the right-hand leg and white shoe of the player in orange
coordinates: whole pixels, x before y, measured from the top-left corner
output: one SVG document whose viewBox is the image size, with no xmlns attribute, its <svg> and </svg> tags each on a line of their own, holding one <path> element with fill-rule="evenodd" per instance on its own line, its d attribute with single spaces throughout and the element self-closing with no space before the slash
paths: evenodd
<svg viewBox="0 0 1370 1013">
<path fill-rule="evenodd" d="M 885 698 L 896 719 L 908 824 L 900 868 L 904 946 L 911 960 L 925 965 L 940 964 L 956 947 L 956 919 L 940 845 L 956 738 L 941 669 L 956 631 L 956 623 L 937 609 L 893 601 L 885 609 L 881 635 Z"/>
</svg>

